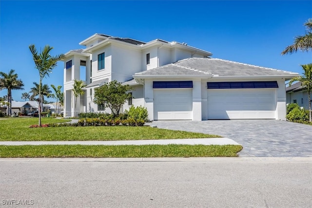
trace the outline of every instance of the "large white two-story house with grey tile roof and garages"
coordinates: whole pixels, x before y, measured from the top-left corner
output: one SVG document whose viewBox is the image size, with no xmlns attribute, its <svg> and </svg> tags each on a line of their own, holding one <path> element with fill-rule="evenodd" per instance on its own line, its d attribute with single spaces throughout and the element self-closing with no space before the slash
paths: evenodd
<svg viewBox="0 0 312 208">
<path fill-rule="evenodd" d="M 151 120 L 281 119 L 285 81 L 296 73 L 211 58 L 186 43 L 142 42 L 95 34 L 65 54 L 64 116 L 75 113 L 74 79 L 84 80 L 77 113 L 109 112 L 93 103 L 94 89 L 117 80 L 131 85 L 131 104 L 145 106 Z"/>
</svg>

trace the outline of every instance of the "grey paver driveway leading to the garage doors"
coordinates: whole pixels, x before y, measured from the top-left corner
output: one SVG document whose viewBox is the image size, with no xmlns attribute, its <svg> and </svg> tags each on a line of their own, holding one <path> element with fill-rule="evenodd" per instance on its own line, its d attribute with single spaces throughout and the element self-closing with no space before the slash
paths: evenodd
<svg viewBox="0 0 312 208">
<path fill-rule="evenodd" d="M 312 126 L 280 120 L 154 121 L 158 128 L 233 139 L 244 157 L 312 157 Z"/>
</svg>

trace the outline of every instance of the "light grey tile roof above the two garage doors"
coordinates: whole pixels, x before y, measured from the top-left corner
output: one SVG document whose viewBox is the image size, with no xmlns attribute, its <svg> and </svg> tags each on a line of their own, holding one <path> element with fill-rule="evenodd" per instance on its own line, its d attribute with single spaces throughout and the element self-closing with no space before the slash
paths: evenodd
<svg viewBox="0 0 312 208">
<path fill-rule="evenodd" d="M 212 75 L 219 77 L 251 76 L 298 76 L 297 73 L 251 64 L 239 63 L 219 58 L 187 58 L 174 64 L 139 72 L 135 76 L 165 75 Z"/>
</svg>

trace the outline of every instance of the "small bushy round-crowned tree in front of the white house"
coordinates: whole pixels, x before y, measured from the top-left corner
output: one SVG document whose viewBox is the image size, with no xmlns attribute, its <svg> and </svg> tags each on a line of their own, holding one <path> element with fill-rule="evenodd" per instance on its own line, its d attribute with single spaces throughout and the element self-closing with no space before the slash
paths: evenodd
<svg viewBox="0 0 312 208">
<path fill-rule="evenodd" d="M 133 90 L 132 87 L 121 85 L 116 80 L 105 83 L 95 89 L 94 103 L 110 108 L 114 117 L 117 117 L 123 104 L 132 96 L 130 90 Z"/>
</svg>

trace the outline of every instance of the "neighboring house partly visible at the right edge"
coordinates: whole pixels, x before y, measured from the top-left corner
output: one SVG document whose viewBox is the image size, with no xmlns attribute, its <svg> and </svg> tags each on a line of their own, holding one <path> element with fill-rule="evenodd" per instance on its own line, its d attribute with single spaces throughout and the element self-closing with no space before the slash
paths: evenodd
<svg viewBox="0 0 312 208">
<path fill-rule="evenodd" d="M 312 97 L 312 93 L 310 95 Z M 301 82 L 296 82 L 286 88 L 286 103 L 297 103 L 304 109 L 309 109 L 308 92 Z"/>
</svg>

